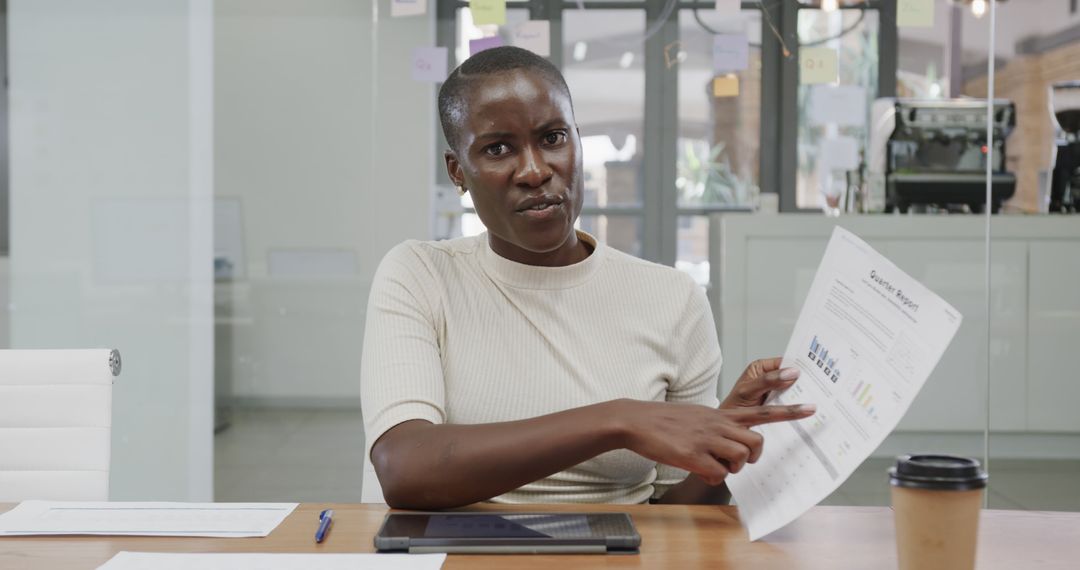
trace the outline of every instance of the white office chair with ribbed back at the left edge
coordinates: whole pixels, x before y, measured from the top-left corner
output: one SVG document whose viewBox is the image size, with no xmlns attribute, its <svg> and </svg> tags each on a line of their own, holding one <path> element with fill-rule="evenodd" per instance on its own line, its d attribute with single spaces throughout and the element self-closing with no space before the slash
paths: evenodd
<svg viewBox="0 0 1080 570">
<path fill-rule="evenodd" d="M 0 502 L 107 501 L 116 350 L 0 350 Z"/>
</svg>

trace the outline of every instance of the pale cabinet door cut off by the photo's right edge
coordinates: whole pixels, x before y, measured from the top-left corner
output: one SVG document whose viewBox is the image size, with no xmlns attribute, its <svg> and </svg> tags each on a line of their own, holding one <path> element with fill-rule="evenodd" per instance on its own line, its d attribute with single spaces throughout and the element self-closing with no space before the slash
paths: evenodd
<svg viewBox="0 0 1080 570">
<path fill-rule="evenodd" d="M 1028 297 L 1027 428 L 1080 431 L 1080 255 L 1077 242 L 1034 242 Z"/>
</svg>

